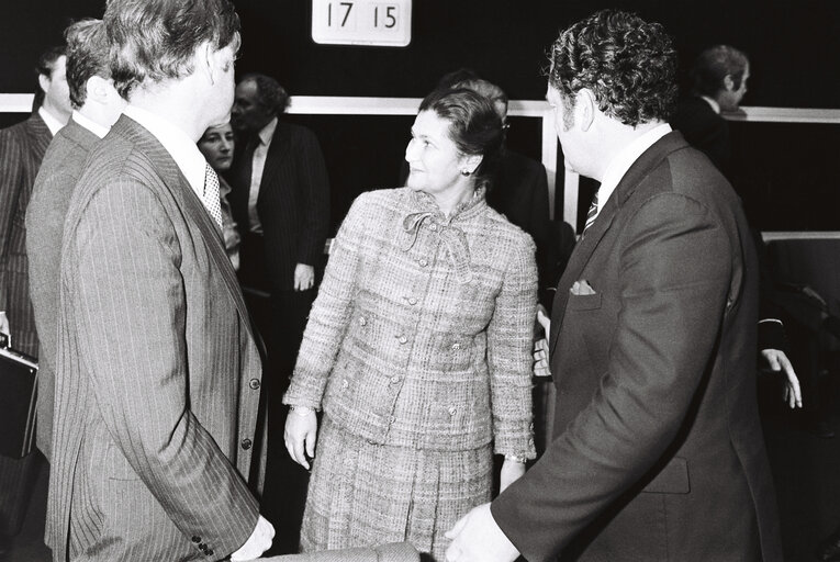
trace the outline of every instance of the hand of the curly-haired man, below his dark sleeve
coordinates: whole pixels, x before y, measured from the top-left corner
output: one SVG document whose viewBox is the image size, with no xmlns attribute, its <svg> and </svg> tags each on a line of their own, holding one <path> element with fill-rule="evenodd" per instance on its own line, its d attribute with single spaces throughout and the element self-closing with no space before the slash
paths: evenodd
<svg viewBox="0 0 840 562">
<path fill-rule="evenodd" d="M 519 555 L 493 519 L 490 504 L 473 508 L 446 537 L 452 539 L 446 549 L 446 562 L 513 562 Z"/>
</svg>

